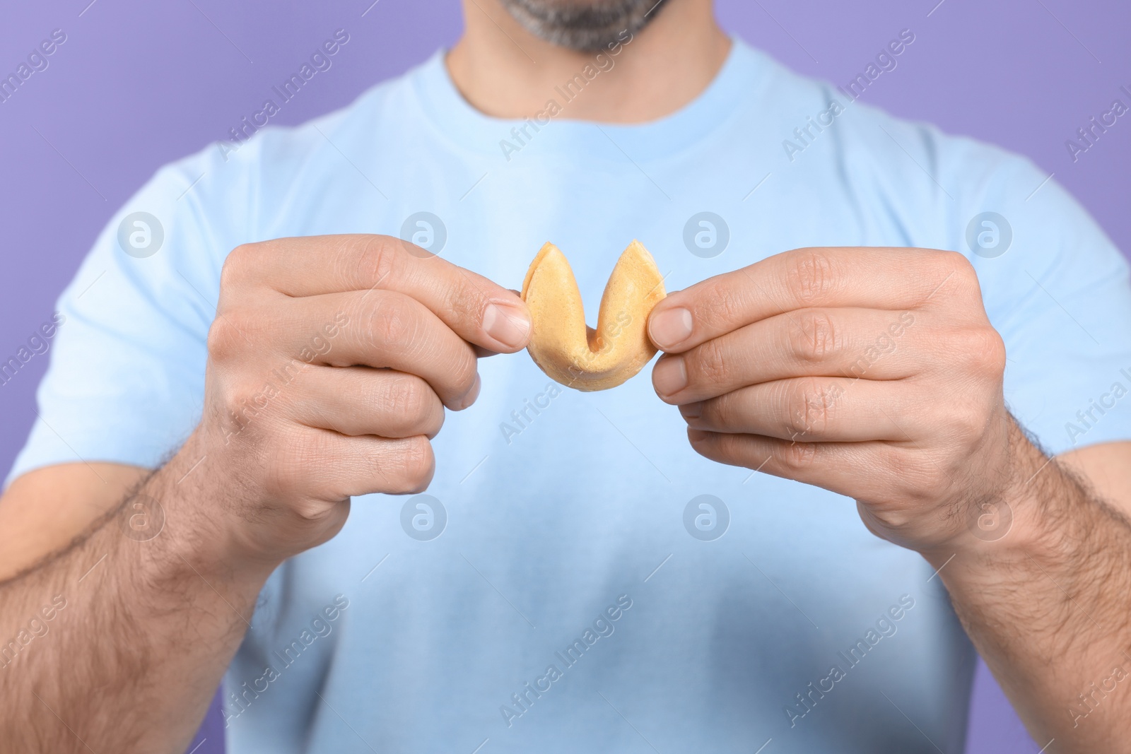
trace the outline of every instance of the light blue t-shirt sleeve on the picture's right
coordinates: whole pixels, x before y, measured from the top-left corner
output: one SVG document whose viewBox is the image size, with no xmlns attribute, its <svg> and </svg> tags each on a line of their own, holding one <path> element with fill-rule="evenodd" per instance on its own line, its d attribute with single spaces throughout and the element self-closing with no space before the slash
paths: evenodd
<svg viewBox="0 0 1131 754">
<path fill-rule="evenodd" d="M 956 217 L 957 248 L 1005 341 L 1010 410 L 1053 454 L 1131 440 L 1126 259 L 1026 159 L 1001 157 L 974 196 Z"/>
</svg>

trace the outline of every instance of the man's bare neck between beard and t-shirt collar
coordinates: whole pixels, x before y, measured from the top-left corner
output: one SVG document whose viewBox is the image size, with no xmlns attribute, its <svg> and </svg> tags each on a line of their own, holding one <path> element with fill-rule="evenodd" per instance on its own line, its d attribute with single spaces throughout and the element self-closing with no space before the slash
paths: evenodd
<svg viewBox="0 0 1131 754">
<path fill-rule="evenodd" d="M 663 118 L 707 88 L 731 50 L 710 0 L 668 0 L 644 29 L 599 53 L 534 36 L 500 0 L 463 2 L 465 32 L 448 53 L 448 71 L 474 107 L 495 118 L 530 118 L 550 99 L 575 120 Z"/>
</svg>

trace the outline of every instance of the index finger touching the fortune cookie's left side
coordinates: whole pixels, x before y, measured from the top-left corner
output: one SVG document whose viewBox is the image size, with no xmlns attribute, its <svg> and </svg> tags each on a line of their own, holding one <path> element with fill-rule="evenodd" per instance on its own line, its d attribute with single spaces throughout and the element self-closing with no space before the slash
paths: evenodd
<svg viewBox="0 0 1131 754">
<path fill-rule="evenodd" d="M 526 346 L 530 315 L 513 293 L 415 244 L 386 235 L 327 235 L 245 244 L 228 275 L 292 297 L 383 288 L 424 304 L 464 340 L 492 352 Z M 228 268 L 232 268 L 228 270 Z"/>
</svg>

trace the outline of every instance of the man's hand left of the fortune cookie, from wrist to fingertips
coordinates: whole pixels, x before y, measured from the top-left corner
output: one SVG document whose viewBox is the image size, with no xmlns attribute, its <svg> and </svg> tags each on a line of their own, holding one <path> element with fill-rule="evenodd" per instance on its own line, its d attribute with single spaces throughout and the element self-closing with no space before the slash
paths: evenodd
<svg viewBox="0 0 1131 754">
<path fill-rule="evenodd" d="M 224 510 L 197 512 L 219 554 L 273 565 L 333 537 L 352 495 L 423 491 L 444 407 L 478 395 L 477 355 L 519 350 L 529 329 L 512 292 L 398 239 L 235 249 L 178 459 L 205 459 L 195 497 Z"/>
</svg>

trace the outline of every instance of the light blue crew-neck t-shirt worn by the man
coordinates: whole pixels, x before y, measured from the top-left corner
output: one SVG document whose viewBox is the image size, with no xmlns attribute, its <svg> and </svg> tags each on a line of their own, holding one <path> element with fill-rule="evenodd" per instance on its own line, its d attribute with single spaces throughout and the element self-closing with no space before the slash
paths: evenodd
<svg viewBox="0 0 1131 754">
<path fill-rule="evenodd" d="M 1128 265 L 1029 162 L 741 42 L 651 123 L 570 120 L 567 94 L 541 123 L 487 118 L 438 53 L 161 170 L 60 298 L 11 476 L 159 463 L 199 421 L 225 254 L 329 233 L 406 233 L 516 288 L 553 241 L 590 322 L 632 239 L 670 291 L 800 246 L 958 250 L 1018 418 L 1052 452 L 1131 439 Z M 230 751 L 961 751 L 973 649 L 932 569 L 852 500 L 697 456 L 647 370 L 597 393 L 525 353 L 480 370 L 430 497 L 355 500 L 268 581 L 225 681 Z"/>
</svg>

